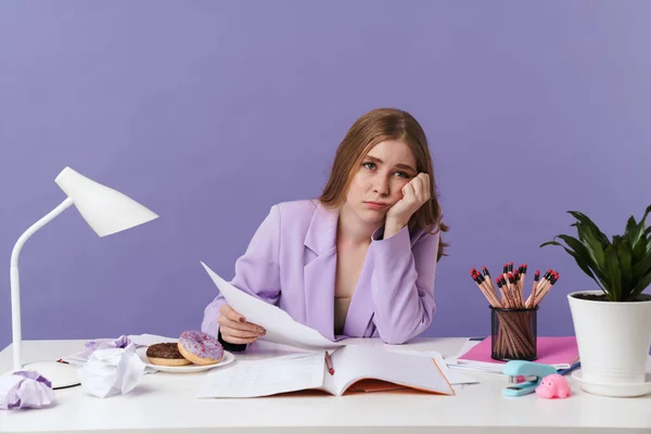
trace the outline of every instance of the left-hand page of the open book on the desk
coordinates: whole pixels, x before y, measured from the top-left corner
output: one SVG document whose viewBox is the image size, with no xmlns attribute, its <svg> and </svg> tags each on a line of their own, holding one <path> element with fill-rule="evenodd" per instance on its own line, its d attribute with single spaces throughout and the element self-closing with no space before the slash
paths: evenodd
<svg viewBox="0 0 651 434">
<path fill-rule="evenodd" d="M 238 359 L 212 370 L 202 381 L 196 397 L 248 398 L 321 388 L 323 371 L 323 352 L 258 360 Z"/>
</svg>

